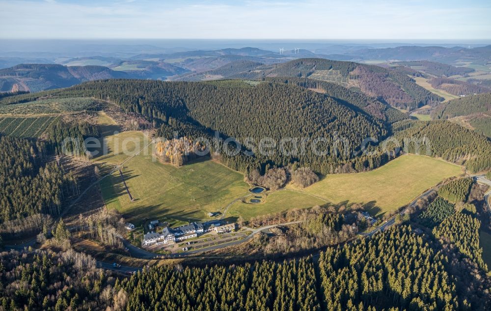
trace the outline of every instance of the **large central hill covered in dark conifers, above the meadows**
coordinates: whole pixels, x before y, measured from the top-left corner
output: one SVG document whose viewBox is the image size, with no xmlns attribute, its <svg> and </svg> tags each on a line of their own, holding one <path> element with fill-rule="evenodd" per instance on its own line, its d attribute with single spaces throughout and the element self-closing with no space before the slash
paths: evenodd
<svg viewBox="0 0 491 311">
<path fill-rule="evenodd" d="M 109 100 L 126 112 L 141 113 L 158 120 L 161 124 L 159 133 L 164 137 L 170 138 L 177 131 L 179 136 L 211 138 L 217 130 L 223 138 L 235 137 L 241 143 L 250 138 L 247 147 L 254 149 L 254 156 L 244 153 L 227 156 L 224 152 L 221 155 L 222 163 L 241 171 L 264 169 L 267 163 L 282 166 L 297 161 L 302 166 L 326 173 L 353 157 L 353 152 L 365 138 L 380 140 L 389 132 L 384 120 L 344 100 L 295 85 L 249 84 L 235 80 L 209 83 L 110 80 L 49 94 Z M 34 96 L 27 94 L 17 98 L 24 101 L 32 100 Z M 14 98 L 5 100 L 15 102 Z M 258 152 L 259 142 L 265 137 L 276 141 L 270 150 L 273 154 Z M 310 145 L 298 155 L 280 152 L 282 139 L 307 138 L 307 142 L 312 142 L 320 137 L 325 141 L 318 144 L 318 149 L 325 151 L 325 155 L 315 155 Z M 339 142 L 333 143 L 336 140 Z"/>
</svg>

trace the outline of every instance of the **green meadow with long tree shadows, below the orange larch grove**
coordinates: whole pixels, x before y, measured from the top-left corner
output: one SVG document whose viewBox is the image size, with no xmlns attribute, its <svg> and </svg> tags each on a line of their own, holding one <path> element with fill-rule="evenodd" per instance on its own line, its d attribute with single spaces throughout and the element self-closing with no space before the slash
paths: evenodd
<svg viewBox="0 0 491 311">
<path fill-rule="evenodd" d="M 153 162 L 137 155 L 123 169 L 132 202 L 115 172 L 101 183 L 108 207 L 117 208 L 139 225 L 145 219 L 170 223 L 209 219 L 235 198 L 246 195 L 249 186 L 244 176 L 211 160 L 197 161 L 180 168 Z"/>
</svg>

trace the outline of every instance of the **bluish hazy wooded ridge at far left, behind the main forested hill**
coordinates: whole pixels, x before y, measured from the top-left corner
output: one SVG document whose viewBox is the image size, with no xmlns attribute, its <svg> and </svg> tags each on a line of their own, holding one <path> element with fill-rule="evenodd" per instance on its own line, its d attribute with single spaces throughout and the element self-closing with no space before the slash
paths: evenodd
<svg viewBox="0 0 491 311">
<path fill-rule="evenodd" d="M 129 78 L 124 72 L 103 66 L 63 66 L 57 64 L 21 64 L 0 69 L 0 91 L 30 91 L 67 87 L 85 81 Z"/>
</svg>

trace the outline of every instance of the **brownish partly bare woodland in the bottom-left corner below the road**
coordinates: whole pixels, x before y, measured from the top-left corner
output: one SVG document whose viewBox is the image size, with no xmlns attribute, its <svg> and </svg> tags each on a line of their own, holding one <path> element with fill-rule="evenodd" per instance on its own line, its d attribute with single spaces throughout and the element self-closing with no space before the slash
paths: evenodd
<svg viewBox="0 0 491 311">
<path fill-rule="evenodd" d="M 34 254 L 2 252 L 0 308 L 12 311 L 105 310 L 113 297 L 107 286 L 114 283 L 114 279 L 108 280 L 95 265 L 94 258 L 73 250 Z"/>
</svg>

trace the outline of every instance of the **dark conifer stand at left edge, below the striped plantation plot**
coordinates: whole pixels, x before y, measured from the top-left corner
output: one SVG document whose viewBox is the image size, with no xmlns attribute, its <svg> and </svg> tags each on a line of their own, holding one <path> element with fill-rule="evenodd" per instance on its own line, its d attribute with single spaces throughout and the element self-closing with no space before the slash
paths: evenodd
<svg viewBox="0 0 491 311">
<path fill-rule="evenodd" d="M 62 211 L 64 198 L 77 193 L 73 176 L 56 162 L 43 163 L 49 155 L 43 142 L 0 136 L 0 222 Z"/>
</svg>

